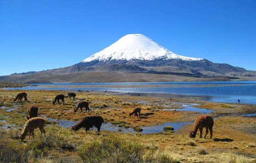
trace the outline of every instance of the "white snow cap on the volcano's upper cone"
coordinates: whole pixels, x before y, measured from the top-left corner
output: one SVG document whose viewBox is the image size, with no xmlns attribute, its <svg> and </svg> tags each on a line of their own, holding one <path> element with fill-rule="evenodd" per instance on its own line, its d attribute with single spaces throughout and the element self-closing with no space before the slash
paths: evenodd
<svg viewBox="0 0 256 163">
<path fill-rule="evenodd" d="M 109 60 L 155 60 L 155 59 L 181 59 L 185 61 L 199 61 L 202 58 L 192 58 L 172 53 L 165 47 L 160 46 L 150 38 L 142 34 L 128 34 L 120 38 L 117 42 L 102 51 L 86 58 L 82 63 L 91 61 Z"/>
</svg>

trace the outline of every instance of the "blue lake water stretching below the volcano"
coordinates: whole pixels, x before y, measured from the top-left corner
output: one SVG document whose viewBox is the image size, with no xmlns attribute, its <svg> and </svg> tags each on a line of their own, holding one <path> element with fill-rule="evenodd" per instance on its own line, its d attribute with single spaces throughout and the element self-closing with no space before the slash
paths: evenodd
<svg viewBox="0 0 256 163">
<path fill-rule="evenodd" d="M 202 97 L 202 100 L 256 104 L 256 81 L 213 81 L 213 82 L 144 82 L 144 83 L 64 83 L 38 84 L 23 88 L 8 89 L 47 89 L 47 90 L 94 90 L 113 91 L 119 93 L 156 93 L 171 95 L 192 95 Z M 93 88 L 86 88 L 86 85 Z M 97 85 L 101 86 L 100 88 Z M 106 85 L 106 87 L 104 87 Z M 132 85 L 140 85 L 132 88 Z M 143 85 L 147 87 L 143 88 Z M 152 85 L 152 87 L 150 86 Z M 160 85 L 160 87 L 155 87 Z M 49 87 L 50 86 L 50 87 Z M 55 87 L 54 87 L 55 86 Z M 107 87 L 111 86 L 111 87 Z M 116 86 L 116 87 L 115 87 Z M 122 88 L 118 88 L 122 86 Z M 126 87 L 127 86 L 127 87 Z M 124 88 L 125 87 L 125 88 Z"/>
</svg>

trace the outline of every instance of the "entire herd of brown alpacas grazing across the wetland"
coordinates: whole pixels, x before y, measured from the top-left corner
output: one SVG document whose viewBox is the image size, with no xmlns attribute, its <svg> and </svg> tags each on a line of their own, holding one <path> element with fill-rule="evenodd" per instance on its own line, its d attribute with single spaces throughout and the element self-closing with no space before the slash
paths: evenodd
<svg viewBox="0 0 256 163">
<path fill-rule="evenodd" d="M 56 101 L 58 101 L 58 104 L 60 104 L 61 102 L 63 102 L 63 104 L 64 104 L 65 97 L 68 97 L 69 99 L 73 98 L 73 100 L 75 100 L 75 96 L 76 96 L 76 94 L 73 92 L 68 93 L 68 95 L 56 95 L 55 99 L 53 100 L 53 105 L 56 103 Z M 25 92 L 19 93 L 16 96 L 16 98 L 14 99 L 14 101 L 16 101 L 16 100 L 21 101 L 22 98 L 24 98 L 25 101 L 27 101 L 27 93 L 25 93 Z M 61 100 L 61 102 L 60 102 L 60 100 Z M 83 111 L 83 108 L 85 108 L 85 111 L 88 110 L 88 112 L 90 112 L 89 103 L 87 101 L 79 102 L 77 107 L 74 108 L 74 111 L 77 112 L 77 110 L 79 108 L 80 108 L 81 112 Z M 134 117 L 137 116 L 137 118 L 139 118 L 140 111 L 141 111 L 141 108 L 135 108 L 135 109 L 133 109 L 132 112 L 129 113 L 129 116 L 134 114 Z M 42 117 L 37 117 L 37 112 L 38 112 L 37 105 L 30 105 L 27 109 L 27 112 L 28 112 L 29 116 L 26 117 L 27 121 L 24 125 L 22 133 L 19 134 L 19 138 L 21 139 L 21 141 L 23 141 L 25 139 L 27 134 L 29 134 L 28 139 L 30 138 L 31 135 L 34 138 L 34 130 L 37 128 L 39 128 L 39 130 L 41 131 L 41 135 L 43 133 L 45 135 L 45 132 L 46 132 L 44 129 L 44 125 L 46 123 L 45 119 Z M 77 131 L 80 128 L 85 128 L 85 131 L 89 131 L 90 128 L 95 126 L 97 128 L 97 134 L 99 134 L 99 131 L 101 129 L 101 125 L 103 122 L 104 122 L 104 119 L 102 118 L 102 116 L 85 116 L 80 121 L 78 121 L 78 123 L 75 124 L 75 126 L 71 126 L 71 128 L 73 131 Z M 189 137 L 195 138 L 197 135 L 197 131 L 199 130 L 200 138 L 202 138 L 203 137 L 202 136 L 203 128 L 206 128 L 206 133 L 205 133 L 204 138 L 208 134 L 208 130 L 210 130 L 210 138 L 212 138 L 213 123 L 214 123 L 214 121 L 211 116 L 208 116 L 208 115 L 198 116 L 194 122 L 193 130 L 189 131 Z"/>
</svg>

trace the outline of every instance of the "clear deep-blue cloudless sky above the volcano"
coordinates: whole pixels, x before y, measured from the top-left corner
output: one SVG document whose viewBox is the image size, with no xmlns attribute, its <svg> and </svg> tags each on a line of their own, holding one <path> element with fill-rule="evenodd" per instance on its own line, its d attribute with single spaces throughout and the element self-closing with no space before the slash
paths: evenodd
<svg viewBox="0 0 256 163">
<path fill-rule="evenodd" d="M 130 33 L 256 70 L 256 0 L 0 0 L 0 75 L 73 65 Z"/>
</svg>

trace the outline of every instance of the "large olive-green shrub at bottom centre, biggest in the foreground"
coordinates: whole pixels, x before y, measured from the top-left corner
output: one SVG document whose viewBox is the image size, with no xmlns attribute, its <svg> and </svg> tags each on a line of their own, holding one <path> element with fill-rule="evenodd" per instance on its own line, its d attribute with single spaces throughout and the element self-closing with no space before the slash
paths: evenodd
<svg viewBox="0 0 256 163">
<path fill-rule="evenodd" d="M 104 137 L 78 152 L 84 163 L 137 163 L 143 161 L 144 147 L 117 137 Z"/>
</svg>

